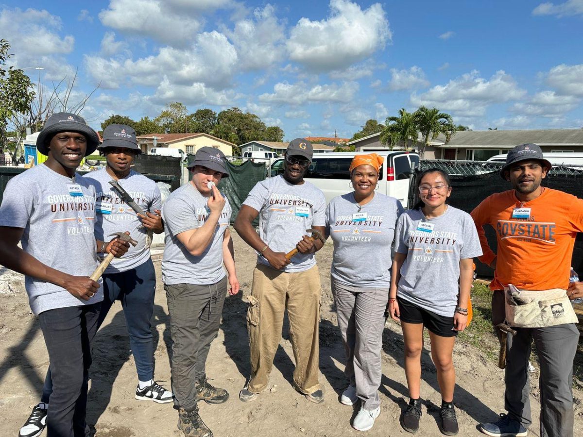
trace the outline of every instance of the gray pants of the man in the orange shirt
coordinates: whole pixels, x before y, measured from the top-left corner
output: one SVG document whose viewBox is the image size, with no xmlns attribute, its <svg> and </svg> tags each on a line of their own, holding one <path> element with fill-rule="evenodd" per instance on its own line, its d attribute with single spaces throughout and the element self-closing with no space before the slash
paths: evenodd
<svg viewBox="0 0 583 437">
<path fill-rule="evenodd" d="M 492 320 L 500 319 L 503 294 L 494 291 Z M 539 355 L 540 436 L 573 437 L 573 360 L 579 332 L 574 323 L 540 328 L 516 328 L 508 336 L 504 408 L 528 428 L 532 424 L 528 360 L 534 341 Z"/>
</svg>

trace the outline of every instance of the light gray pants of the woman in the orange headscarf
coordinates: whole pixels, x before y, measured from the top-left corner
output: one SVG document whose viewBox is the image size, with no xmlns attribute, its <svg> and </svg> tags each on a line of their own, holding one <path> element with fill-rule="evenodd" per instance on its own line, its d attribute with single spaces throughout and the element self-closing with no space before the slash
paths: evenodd
<svg viewBox="0 0 583 437">
<path fill-rule="evenodd" d="M 374 410 L 381 401 L 382 330 L 389 288 L 360 288 L 339 283 L 331 278 L 336 303 L 338 326 L 346 351 L 345 374 L 356 387 L 361 407 Z"/>
</svg>

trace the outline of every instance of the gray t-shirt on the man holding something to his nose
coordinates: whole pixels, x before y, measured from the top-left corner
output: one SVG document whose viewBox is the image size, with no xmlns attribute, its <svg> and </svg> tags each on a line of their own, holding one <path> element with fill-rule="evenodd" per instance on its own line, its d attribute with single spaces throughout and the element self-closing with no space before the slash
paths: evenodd
<svg viewBox="0 0 583 437">
<path fill-rule="evenodd" d="M 227 274 L 223 267 L 223 238 L 231 218 L 229 200 L 223 207 L 212 241 L 202 255 L 191 255 L 176 238 L 181 232 L 205 224 L 209 217 L 207 202 L 208 198 L 205 198 L 190 182 L 170 193 L 166 199 L 162 207 L 166 233 L 162 259 L 164 284 L 216 284 Z"/>
</svg>

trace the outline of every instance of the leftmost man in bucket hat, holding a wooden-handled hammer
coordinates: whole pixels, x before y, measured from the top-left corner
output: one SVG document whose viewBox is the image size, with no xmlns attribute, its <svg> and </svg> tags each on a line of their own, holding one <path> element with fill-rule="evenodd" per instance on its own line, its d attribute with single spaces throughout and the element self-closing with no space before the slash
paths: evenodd
<svg viewBox="0 0 583 437">
<path fill-rule="evenodd" d="M 48 118 L 37 138 L 47 160 L 12 178 L 0 206 L 0 263 L 25 275 L 30 308 L 47 344 L 54 390 L 19 435 L 89 435 L 85 422 L 91 348 L 103 300 L 89 278 L 97 252 L 121 256 L 129 244 L 94 237 L 95 189 L 75 172 L 99 138 L 78 115 Z M 22 249 L 17 244 L 22 242 Z"/>
</svg>

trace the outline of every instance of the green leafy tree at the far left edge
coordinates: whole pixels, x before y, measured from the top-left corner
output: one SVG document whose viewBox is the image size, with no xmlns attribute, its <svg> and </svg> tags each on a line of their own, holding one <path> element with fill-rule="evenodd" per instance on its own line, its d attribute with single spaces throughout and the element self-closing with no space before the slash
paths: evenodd
<svg viewBox="0 0 583 437">
<path fill-rule="evenodd" d="M 9 50 L 8 41 L 0 40 L 0 146 L 6 142 L 9 122 L 16 114 L 28 115 L 34 99 L 33 84 L 24 71 L 13 66 L 6 70 L 6 59 L 12 56 Z"/>
</svg>

